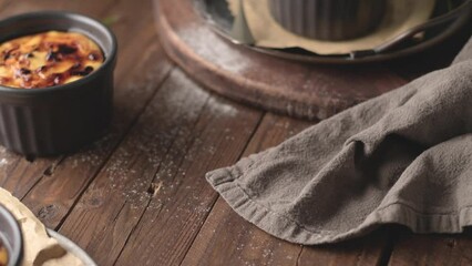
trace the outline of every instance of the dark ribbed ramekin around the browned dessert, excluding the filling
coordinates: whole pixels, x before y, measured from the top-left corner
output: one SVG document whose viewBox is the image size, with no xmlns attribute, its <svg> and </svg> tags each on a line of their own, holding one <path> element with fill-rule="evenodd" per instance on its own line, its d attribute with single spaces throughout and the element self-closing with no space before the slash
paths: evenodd
<svg viewBox="0 0 472 266">
<path fill-rule="evenodd" d="M 76 13 L 25 13 L 0 21 L 0 42 L 50 30 L 85 34 L 100 45 L 105 61 L 89 75 L 63 85 L 0 86 L 0 144 L 25 155 L 74 151 L 102 136 L 112 116 L 117 44 L 102 23 Z"/>
</svg>

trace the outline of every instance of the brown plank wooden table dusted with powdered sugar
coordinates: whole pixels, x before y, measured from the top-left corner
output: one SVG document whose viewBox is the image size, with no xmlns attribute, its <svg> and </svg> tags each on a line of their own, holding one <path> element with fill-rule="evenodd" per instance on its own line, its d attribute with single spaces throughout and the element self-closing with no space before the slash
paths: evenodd
<svg viewBox="0 0 472 266">
<path fill-rule="evenodd" d="M 157 42 L 152 3 L 1 0 L 0 16 L 57 9 L 106 20 L 117 35 L 111 133 L 83 151 L 23 157 L 0 150 L 0 185 L 100 265 L 468 265 L 468 234 L 389 226 L 328 246 L 279 241 L 236 215 L 204 174 L 274 146 L 315 122 L 222 99 L 189 80 Z M 403 83 L 447 65 L 469 33 L 381 64 Z"/>
</svg>

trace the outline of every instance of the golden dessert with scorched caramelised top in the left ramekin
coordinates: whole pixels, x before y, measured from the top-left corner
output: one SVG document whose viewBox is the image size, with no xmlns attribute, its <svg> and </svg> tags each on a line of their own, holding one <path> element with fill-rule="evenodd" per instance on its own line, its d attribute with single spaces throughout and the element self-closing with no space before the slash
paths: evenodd
<svg viewBox="0 0 472 266">
<path fill-rule="evenodd" d="M 48 31 L 0 44 L 0 85 L 47 88 L 66 84 L 103 64 L 99 45 L 78 32 Z"/>
</svg>

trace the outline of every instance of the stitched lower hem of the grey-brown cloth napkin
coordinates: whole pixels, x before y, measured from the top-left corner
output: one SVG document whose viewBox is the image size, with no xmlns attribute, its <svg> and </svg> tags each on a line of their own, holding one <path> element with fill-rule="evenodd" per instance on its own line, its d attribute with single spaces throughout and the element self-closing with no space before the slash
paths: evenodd
<svg viewBox="0 0 472 266">
<path fill-rule="evenodd" d="M 462 233 L 472 225 L 472 206 L 464 206 L 448 214 L 424 214 L 394 202 L 380 205 L 356 228 L 336 234 L 336 231 L 312 231 L 293 218 L 255 201 L 238 183 L 244 173 L 238 167 L 220 168 L 206 175 L 206 180 L 228 205 L 243 218 L 260 229 L 288 242 L 304 245 L 337 243 L 367 234 L 381 225 L 400 224 L 414 233 Z"/>
</svg>

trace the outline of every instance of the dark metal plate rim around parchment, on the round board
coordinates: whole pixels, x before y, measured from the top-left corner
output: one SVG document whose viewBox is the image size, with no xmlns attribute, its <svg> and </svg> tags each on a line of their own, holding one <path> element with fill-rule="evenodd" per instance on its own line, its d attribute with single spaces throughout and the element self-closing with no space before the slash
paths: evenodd
<svg viewBox="0 0 472 266">
<path fill-rule="evenodd" d="M 237 43 L 229 34 L 234 17 L 227 7 L 226 0 L 196 0 L 195 8 L 219 35 Z M 444 8 L 445 7 L 442 4 L 437 3 L 434 17 L 445 13 L 447 11 Z M 452 22 L 432 30 L 427 30 L 422 40 L 406 41 L 401 47 L 390 50 L 389 52 L 373 53 L 362 58 L 351 58 L 350 54 L 319 55 L 298 48 L 265 49 L 246 44 L 240 45 L 245 45 L 260 53 L 308 63 L 349 64 L 379 62 L 418 53 L 439 44 L 460 30 L 469 21 L 470 17 L 470 12 L 464 12 Z"/>
</svg>

